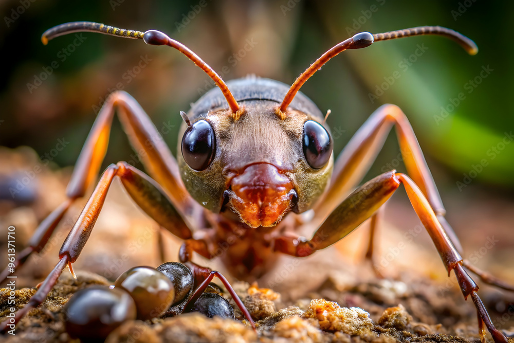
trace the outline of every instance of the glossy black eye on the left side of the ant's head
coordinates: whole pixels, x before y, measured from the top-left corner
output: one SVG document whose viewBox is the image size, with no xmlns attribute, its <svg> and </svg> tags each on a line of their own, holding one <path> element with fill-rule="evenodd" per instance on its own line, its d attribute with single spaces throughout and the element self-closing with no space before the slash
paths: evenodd
<svg viewBox="0 0 514 343">
<path fill-rule="evenodd" d="M 193 123 L 182 137 L 182 156 L 189 167 L 202 171 L 209 167 L 216 151 L 216 137 L 207 120 Z"/>
</svg>

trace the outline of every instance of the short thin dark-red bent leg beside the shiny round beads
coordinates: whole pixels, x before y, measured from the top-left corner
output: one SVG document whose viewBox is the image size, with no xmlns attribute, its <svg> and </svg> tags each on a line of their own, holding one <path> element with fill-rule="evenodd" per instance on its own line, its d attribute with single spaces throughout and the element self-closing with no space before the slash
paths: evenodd
<svg viewBox="0 0 514 343">
<path fill-rule="evenodd" d="M 200 295 L 204 293 L 205 288 L 207 288 L 207 286 L 209 285 L 209 282 L 211 282 L 212 279 L 215 276 L 217 276 L 217 278 L 221 280 L 225 288 L 227 288 L 227 291 L 228 293 L 230 293 L 232 299 L 234 299 L 235 304 L 241 310 L 241 312 L 243 312 L 243 315 L 246 317 L 248 322 L 250 322 L 250 325 L 255 331 L 255 322 L 253 321 L 250 312 L 248 312 L 243 301 L 241 301 L 241 299 L 237 296 L 230 282 L 228 282 L 228 280 L 216 270 L 212 270 L 207 267 L 202 267 L 192 262 L 191 259 L 193 251 L 197 252 L 198 254 L 204 257 L 212 258 L 207 243 L 203 240 L 189 239 L 186 240 L 186 242 L 184 242 L 182 246 L 180 246 L 179 261 L 187 265 L 188 268 L 191 269 L 191 273 L 193 273 L 194 277 L 194 286 L 197 287 L 191 298 L 189 298 L 183 312 L 188 312 L 193 308 L 194 303 L 196 302 L 196 300 L 198 300 Z"/>
</svg>

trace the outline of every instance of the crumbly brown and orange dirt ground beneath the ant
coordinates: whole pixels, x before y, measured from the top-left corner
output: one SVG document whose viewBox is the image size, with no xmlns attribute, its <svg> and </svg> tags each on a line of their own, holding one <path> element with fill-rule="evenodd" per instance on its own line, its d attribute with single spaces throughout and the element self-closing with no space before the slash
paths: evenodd
<svg viewBox="0 0 514 343">
<path fill-rule="evenodd" d="M 0 200 L 0 268 L 7 265 L 8 227 L 15 227 L 20 252 L 38 223 L 64 199 L 70 169 L 40 165 L 28 148 L 0 149 L 0 184 L 19 186 L 20 193 Z M 38 171 L 35 167 L 40 166 Z M 21 170 L 31 170 L 27 175 Z M 27 177 L 26 179 L 23 179 Z M 9 187 L 7 187 L 8 189 Z M 447 192 L 448 220 L 461 237 L 471 262 L 514 283 L 514 203 L 491 197 L 478 188 Z M 59 248 L 86 200 L 77 202 L 39 256 L 16 270 L 16 307 L 22 306 L 58 261 Z M 394 196 L 380 228 L 378 278 L 363 260 L 368 224 L 340 243 L 306 259 L 283 258 L 258 286 L 234 281 L 236 292 L 258 320 L 258 332 L 241 321 L 183 314 L 152 321 L 128 321 L 107 342 L 394 342 L 479 341 L 476 312 L 464 301 L 455 277 L 445 273 L 430 238 L 421 229 L 405 196 Z M 5 342 L 73 341 L 64 331 L 62 307 L 67 299 L 91 284 L 112 284 L 136 265 L 157 266 L 158 228 L 131 203 L 118 183 L 112 187 L 90 240 L 74 264 L 78 280 L 65 269 L 58 284 L 39 308 L 15 330 L 0 335 Z M 116 242 L 116 244 L 113 244 Z M 166 259 L 176 261 L 180 241 L 165 237 Z M 195 261 L 224 272 L 216 261 Z M 483 285 L 479 292 L 492 322 L 514 337 L 514 294 Z M 5 286 L 1 285 L 1 286 Z M 28 287 L 28 288 L 24 288 Z M 266 290 L 270 288 L 270 290 Z M 0 290 L 0 320 L 9 313 L 6 288 Z M 226 296 L 230 299 L 230 296 Z M 241 313 L 235 311 L 236 317 Z M 490 336 L 488 339 L 492 341 Z M 509 338 L 514 342 L 513 338 Z"/>
</svg>

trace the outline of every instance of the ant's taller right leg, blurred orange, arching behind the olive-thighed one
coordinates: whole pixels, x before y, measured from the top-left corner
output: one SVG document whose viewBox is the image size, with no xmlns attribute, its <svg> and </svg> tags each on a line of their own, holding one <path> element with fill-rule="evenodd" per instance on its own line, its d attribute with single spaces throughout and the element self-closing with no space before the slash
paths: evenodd
<svg viewBox="0 0 514 343">
<path fill-rule="evenodd" d="M 391 104 L 380 106 L 339 155 L 332 174 L 331 188 L 315 207 L 315 219 L 321 223 L 344 200 L 347 192 L 361 182 L 393 126 L 407 174 L 419 185 L 457 251 L 462 253 L 460 241 L 444 218 L 446 210 L 412 126 L 401 109 Z"/>
</svg>

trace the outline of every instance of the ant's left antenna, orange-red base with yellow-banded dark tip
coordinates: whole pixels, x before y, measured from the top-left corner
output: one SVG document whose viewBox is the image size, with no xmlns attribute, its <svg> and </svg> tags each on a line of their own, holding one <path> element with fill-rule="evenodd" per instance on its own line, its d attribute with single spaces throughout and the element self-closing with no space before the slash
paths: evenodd
<svg viewBox="0 0 514 343">
<path fill-rule="evenodd" d="M 61 24 L 58 26 L 54 26 L 51 29 L 46 30 L 41 36 L 41 41 L 44 45 L 48 44 L 49 40 L 52 40 L 60 35 L 75 33 L 75 32 L 99 32 L 109 35 L 114 35 L 117 37 L 124 38 L 132 38 L 132 39 L 142 39 L 146 44 L 149 45 L 168 45 L 172 48 L 177 49 L 186 55 L 191 61 L 194 62 L 198 67 L 205 71 L 207 75 L 214 81 L 214 83 L 221 89 L 225 99 L 228 102 L 230 110 L 232 113 L 236 113 L 239 110 L 239 105 L 235 100 L 234 96 L 228 89 L 227 84 L 222 80 L 221 77 L 201 58 L 199 58 L 196 53 L 191 51 L 187 46 L 179 43 L 171 38 L 169 38 L 166 34 L 156 31 L 149 30 L 146 32 L 136 31 L 136 30 L 125 30 L 120 29 L 113 26 L 108 26 L 100 23 L 94 22 L 71 22 L 66 24 Z"/>
</svg>

